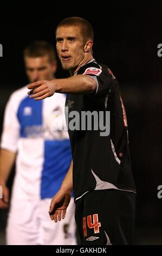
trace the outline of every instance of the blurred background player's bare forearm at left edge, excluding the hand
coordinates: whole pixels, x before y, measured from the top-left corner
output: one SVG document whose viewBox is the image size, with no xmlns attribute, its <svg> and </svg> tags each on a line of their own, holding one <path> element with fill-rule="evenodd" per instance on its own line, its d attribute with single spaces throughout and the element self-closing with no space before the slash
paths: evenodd
<svg viewBox="0 0 162 256">
<path fill-rule="evenodd" d="M 1 149 L 0 150 L 0 182 L 6 183 L 14 164 L 16 153 Z"/>
</svg>

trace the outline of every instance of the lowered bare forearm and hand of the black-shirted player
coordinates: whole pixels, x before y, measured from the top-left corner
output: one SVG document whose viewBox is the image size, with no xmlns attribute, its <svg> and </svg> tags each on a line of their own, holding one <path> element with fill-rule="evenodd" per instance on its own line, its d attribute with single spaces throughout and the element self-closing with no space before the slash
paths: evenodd
<svg viewBox="0 0 162 256">
<path fill-rule="evenodd" d="M 55 194 L 50 203 L 49 215 L 51 220 L 57 222 L 64 219 L 66 210 L 70 203 L 71 193 L 73 190 L 73 161 L 62 182 L 60 190 Z"/>
</svg>

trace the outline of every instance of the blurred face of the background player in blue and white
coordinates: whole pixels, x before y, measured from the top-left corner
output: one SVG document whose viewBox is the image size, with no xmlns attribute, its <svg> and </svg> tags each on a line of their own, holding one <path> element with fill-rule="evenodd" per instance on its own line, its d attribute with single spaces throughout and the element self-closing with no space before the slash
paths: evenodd
<svg viewBox="0 0 162 256">
<path fill-rule="evenodd" d="M 51 63 L 47 55 L 25 57 L 25 70 L 29 81 L 51 80 L 56 72 L 56 63 Z"/>
</svg>

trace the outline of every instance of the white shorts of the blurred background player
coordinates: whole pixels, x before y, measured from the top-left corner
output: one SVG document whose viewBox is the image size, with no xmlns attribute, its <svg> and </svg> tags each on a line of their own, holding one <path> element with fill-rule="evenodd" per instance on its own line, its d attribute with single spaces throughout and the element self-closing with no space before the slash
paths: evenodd
<svg viewBox="0 0 162 256">
<path fill-rule="evenodd" d="M 12 200 L 7 224 L 7 245 L 76 245 L 75 204 L 71 198 L 66 217 L 50 220 L 51 199 Z"/>
</svg>

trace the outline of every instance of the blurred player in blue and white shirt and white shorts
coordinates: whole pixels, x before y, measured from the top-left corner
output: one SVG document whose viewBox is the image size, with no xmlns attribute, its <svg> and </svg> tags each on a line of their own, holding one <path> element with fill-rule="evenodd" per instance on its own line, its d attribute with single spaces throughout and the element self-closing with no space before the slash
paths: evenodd
<svg viewBox="0 0 162 256">
<path fill-rule="evenodd" d="M 35 41 L 24 50 L 30 82 L 53 80 L 57 68 L 53 46 Z M 0 208 L 9 206 L 7 180 L 16 160 L 7 225 L 8 245 L 75 245 L 74 198 L 63 222 L 51 224 L 50 198 L 59 190 L 72 160 L 65 124 L 63 94 L 45 101 L 27 96 L 27 87 L 11 94 L 5 108 L 0 154 Z"/>
</svg>

